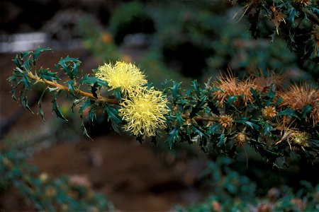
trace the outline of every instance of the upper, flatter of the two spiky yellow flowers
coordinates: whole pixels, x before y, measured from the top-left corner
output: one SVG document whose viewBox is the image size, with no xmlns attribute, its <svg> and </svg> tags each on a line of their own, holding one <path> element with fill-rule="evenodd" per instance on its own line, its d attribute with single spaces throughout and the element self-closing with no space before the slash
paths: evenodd
<svg viewBox="0 0 319 212">
<path fill-rule="evenodd" d="M 133 64 L 118 61 L 115 66 L 104 64 L 99 66 L 95 76 L 106 81 L 112 89 L 121 88 L 123 93 L 135 90 L 147 83 L 144 74 Z"/>
</svg>

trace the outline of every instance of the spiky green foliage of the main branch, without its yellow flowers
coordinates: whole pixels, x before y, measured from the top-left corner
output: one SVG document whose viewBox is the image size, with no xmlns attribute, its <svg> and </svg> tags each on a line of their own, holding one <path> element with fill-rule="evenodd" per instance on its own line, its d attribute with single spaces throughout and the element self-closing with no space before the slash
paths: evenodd
<svg viewBox="0 0 319 212">
<path fill-rule="evenodd" d="M 43 69 L 36 71 L 36 60 L 34 58 L 31 60 L 29 57 L 23 61 L 27 55 L 33 54 L 33 52 L 26 52 L 17 56 L 14 59 L 17 67 L 13 71 L 13 76 L 9 78 L 13 84 L 13 98 L 15 98 L 16 88 L 21 85 L 21 104 L 28 110 L 30 108 L 26 93 L 33 83 L 40 82 L 47 84 L 52 94 L 52 111 L 57 114 L 57 117 L 67 120 L 57 105 L 60 93 L 67 92 L 69 93 L 67 97 L 73 102 L 72 108 L 79 106 L 82 119 L 86 114 L 89 122 L 94 122 L 97 111 L 101 108 L 106 112 L 113 130 L 120 132 L 118 126 L 127 124 L 118 115 L 118 105 L 123 95 L 121 91 L 108 91 L 110 97 L 114 94 L 116 96 L 103 98 L 99 93 L 101 89 L 108 87 L 105 81 L 86 75 L 77 82 L 80 61 L 70 57 L 61 59 L 57 66 L 61 66 L 73 82 L 74 88 L 58 84 L 56 73 L 48 69 L 45 69 L 45 76 L 52 77 L 40 78 L 38 76 L 43 73 Z M 308 160 L 318 158 L 319 126 L 318 114 L 315 114 L 318 102 L 310 101 L 302 110 L 298 110 L 288 107 L 289 102 L 288 106 L 281 103 L 283 94 L 280 92 L 279 95 L 273 84 L 270 84 L 267 90 L 257 90 L 255 88 L 259 88 L 258 84 L 242 81 L 232 88 L 230 82 L 233 80 L 235 79 L 228 77 L 224 80 L 220 79 L 219 84 L 208 82 L 204 87 L 201 87 L 197 81 L 193 81 L 188 90 L 181 90 L 181 83 L 174 81 L 171 83 L 172 86 L 169 83 L 166 84 L 167 88 L 163 91 L 170 100 L 168 105 L 170 112 L 166 116 L 165 131 L 167 131 L 166 140 L 170 148 L 176 142 L 187 141 L 197 143 L 207 153 L 220 151 L 234 158 L 237 149 L 248 144 L 269 163 L 275 163 L 276 158 L 287 157 L 294 152 Z M 225 88 L 223 84 L 226 85 Z M 91 88 L 90 93 L 80 90 L 79 86 Z M 239 92 L 236 89 L 243 90 Z M 237 92 L 237 94 L 234 95 L 231 92 Z M 306 95 L 311 95 L 312 97 L 309 97 L 311 100 L 316 93 L 318 90 Z M 43 116 L 41 99 L 42 97 L 39 101 L 39 113 Z M 84 113 L 84 110 L 88 112 Z M 83 121 L 82 126 L 84 127 Z M 85 127 L 84 134 L 87 134 Z M 239 136 L 241 139 L 238 139 Z"/>
</svg>

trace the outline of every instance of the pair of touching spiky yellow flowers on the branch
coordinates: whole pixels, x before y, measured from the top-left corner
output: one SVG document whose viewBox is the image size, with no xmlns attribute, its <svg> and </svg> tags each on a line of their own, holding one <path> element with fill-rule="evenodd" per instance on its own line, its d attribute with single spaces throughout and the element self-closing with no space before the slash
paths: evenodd
<svg viewBox="0 0 319 212">
<path fill-rule="evenodd" d="M 166 126 L 167 99 L 161 91 L 145 87 L 147 80 L 138 67 L 118 61 L 114 66 L 100 66 L 95 76 L 106 81 L 110 90 L 120 88 L 124 94 L 118 114 L 126 122 L 125 131 L 135 136 L 155 136 Z"/>
</svg>

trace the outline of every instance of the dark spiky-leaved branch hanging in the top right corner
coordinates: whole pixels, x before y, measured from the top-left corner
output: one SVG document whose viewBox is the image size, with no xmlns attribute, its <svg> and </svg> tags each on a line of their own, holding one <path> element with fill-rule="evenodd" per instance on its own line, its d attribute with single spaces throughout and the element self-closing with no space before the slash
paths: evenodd
<svg viewBox="0 0 319 212">
<path fill-rule="evenodd" d="M 242 8 L 235 13 L 234 18 L 239 21 L 247 16 L 253 37 L 264 36 L 262 30 L 265 25 L 269 25 L 265 20 L 270 20 L 273 32 L 266 35 L 271 37 L 272 42 L 278 35 L 284 37 L 287 46 L 292 52 L 296 52 L 301 64 L 318 78 L 318 1 L 239 0 L 237 4 Z"/>
</svg>

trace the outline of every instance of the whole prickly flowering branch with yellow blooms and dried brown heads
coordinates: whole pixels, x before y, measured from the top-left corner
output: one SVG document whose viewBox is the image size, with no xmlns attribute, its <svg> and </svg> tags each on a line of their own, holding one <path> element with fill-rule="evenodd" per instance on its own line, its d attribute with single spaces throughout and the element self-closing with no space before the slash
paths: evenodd
<svg viewBox="0 0 319 212">
<path fill-rule="evenodd" d="M 57 98 L 66 93 L 72 108 L 79 108 L 84 134 L 83 120 L 93 122 L 101 109 L 114 131 L 123 126 L 140 142 L 146 137 L 156 141 L 166 134 L 170 148 L 186 141 L 198 143 L 208 153 L 235 157 L 238 149 L 250 145 L 270 163 L 295 155 L 291 153 L 318 158 L 318 88 L 285 89 L 276 75 L 240 81 L 230 74 L 204 86 L 193 81 L 188 90 L 181 90 L 181 83 L 174 81 L 155 90 L 133 64 L 104 64 L 94 76 L 79 76 L 81 62 L 71 57 L 57 63 L 69 77 L 62 85 L 57 73 L 35 66 L 40 53 L 48 50 L 24 52 L 13 59 L 16 69 L 9 78 L 13 98 L 20 88 L 21 104 L 30 110 L 27 93 L 35 83 L 43 83 L 52 95 L 52 111 L 66 121 L 57 105 Z M 41 98 L 38 113 L 43 117 Z"/>
</svg>

